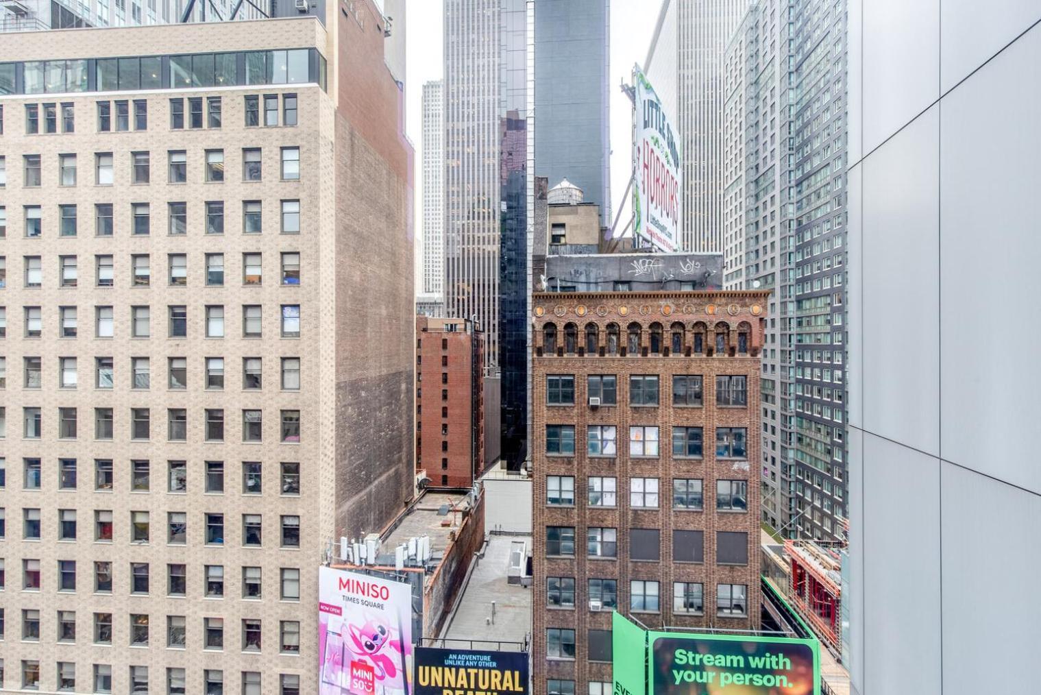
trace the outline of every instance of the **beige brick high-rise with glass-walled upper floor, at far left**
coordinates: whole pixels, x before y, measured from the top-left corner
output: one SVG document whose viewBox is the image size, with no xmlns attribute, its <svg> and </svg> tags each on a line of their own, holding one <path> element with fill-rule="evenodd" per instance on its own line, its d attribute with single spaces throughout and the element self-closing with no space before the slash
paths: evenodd
<svg viewBox="0 0 1041 695">
<path fill-rule="evenodd" d="M 381 23 L 0 44 L 0 692 L 318 692 L 329 541 L 413 494 Z"/>
</svg>

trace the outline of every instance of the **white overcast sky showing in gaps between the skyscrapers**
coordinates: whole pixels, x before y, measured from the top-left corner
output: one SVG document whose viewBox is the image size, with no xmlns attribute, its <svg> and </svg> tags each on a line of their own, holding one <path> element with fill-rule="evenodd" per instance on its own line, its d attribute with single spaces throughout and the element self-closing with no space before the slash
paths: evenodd
<svg viewBox="0 0 1041 695">
<path fill-rule="evenodd" d="M 542 0 L 540 0 L 542 1 Z M 567 0 L 549 0 L 566 2 Z M 608 89 L 611 107 L 611 199 L 616 214 L 632 170 L 632 105 L 618 85 L 631 81 L 634 62 L 642 65 L 661 0 L 609 0 L 611 3 L 611 65 Z M 443 1 L 407 0 L 406 5 L 406 129 L 415 147 L 415 229 L 423 230 L 423 84 L 440 79 L 445 69 Z M 538 124 L 535 125 L 538 132 Z M 554 182 L 551 182 L 551 185 Z M 619 229 L 628 221 L 618 222 Z"/>
</svg>

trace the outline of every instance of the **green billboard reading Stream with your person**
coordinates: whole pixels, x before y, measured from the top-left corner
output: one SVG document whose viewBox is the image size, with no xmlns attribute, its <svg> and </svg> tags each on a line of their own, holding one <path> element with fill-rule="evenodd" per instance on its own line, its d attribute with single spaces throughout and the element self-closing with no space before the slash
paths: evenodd
<svg viewBox="0 0 1041 695">
<path fill-rule="evenodd" d="M 644 683 L 649 695 L 820 695 L 817 640 L 644 632 L 618 613 L 612 629 L 614 695 L 640 695 Z"/>
</svg>

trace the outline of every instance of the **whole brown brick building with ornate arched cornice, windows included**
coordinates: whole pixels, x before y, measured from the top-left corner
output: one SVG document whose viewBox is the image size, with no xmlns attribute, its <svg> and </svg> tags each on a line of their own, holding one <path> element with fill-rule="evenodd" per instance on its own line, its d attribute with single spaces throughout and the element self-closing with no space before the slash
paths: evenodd
<svg viewBox="0 0 1041 695">
<path fill-rule="evenodd" d="M 534 294 L 536 693 L 610 692 L 612 609 L 759 627 L 767 295 Z"/>
</svg>

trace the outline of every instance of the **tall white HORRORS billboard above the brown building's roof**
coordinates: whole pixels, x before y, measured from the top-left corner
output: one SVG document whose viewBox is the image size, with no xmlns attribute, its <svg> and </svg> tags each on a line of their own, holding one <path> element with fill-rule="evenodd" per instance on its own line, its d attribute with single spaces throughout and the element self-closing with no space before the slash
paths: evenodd
<svg viewBox="0 0 1041 695">
<path fill-rule="evenodd" d="M 633 67 L 633 232 L 665 253 L 678 249 L 683 210 L 680 146 L 661 99 Z"/>
</svg>

